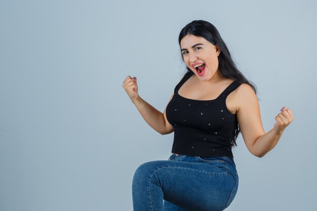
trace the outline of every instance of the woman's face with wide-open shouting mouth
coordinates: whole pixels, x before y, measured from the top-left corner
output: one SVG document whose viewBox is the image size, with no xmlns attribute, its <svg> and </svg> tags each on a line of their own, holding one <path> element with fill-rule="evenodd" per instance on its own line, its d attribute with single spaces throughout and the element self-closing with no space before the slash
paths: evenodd
<svg viewBox="0 0 317 211">
<path fill-rule="evenodd" d="M 204 37 L 187 34 L 180 41 L 180 46 L 184 62 L 200 80 L 210 80 L 215 74 L 218 77 L 220 49 L 217 45 L 214 46 Z"/>
</svg>

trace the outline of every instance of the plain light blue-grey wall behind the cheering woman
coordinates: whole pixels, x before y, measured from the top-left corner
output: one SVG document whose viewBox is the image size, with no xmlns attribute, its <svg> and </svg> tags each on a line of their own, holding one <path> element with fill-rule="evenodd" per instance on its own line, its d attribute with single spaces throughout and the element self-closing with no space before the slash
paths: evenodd
<svg viewBox="0 0 317 211">
<path fill-rule="evenodd" d="M 178 34 L 214 24 L 258 88 L 265 131 L 294 121 L 264 157 L 241 134 L 227 210 L 313 210 L 315 1 L 0 1 L 0 210 L 132 210 L 136 168 L 167 160 L 173 134 L 143 120 L 122 87 L 163 112 L 185 72 Z"/>
</svg>

